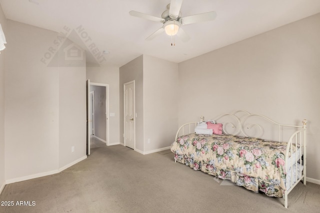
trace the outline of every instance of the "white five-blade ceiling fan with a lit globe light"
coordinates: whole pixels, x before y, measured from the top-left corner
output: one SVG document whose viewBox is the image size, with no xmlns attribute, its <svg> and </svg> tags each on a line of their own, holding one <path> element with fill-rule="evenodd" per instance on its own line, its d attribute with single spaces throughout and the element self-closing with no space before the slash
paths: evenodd
<svg viewBox="0 0 320 213">
<path fill-rule="evenodd" d="M 173 36 L 177 34 L 182 41 L 187 41 L 190 37 L 184 32 L 181 25 L 213 20 L 216 17 L 216 12 L 214 11 L 181 17 L 181 5 L 182 0 L 171 0 L 171 2 L 166 6 L 167 9 L 162 12 L 161 17 L 156 17 L 134 10 L 129 11 L 129 14 L 139 18 L 163 23 L 161 28 L 153 32 L 145 38 L 145 40 L 151 40 L 165 31 L 167 35 Z"/>
</svg>

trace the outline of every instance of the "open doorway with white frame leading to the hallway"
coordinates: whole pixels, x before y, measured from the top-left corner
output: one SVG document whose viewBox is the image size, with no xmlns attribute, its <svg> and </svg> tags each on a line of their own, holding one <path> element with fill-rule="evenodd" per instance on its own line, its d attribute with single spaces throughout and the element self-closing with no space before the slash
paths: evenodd
<svg viewBox="0 0 320 213">
<path fill-rule="evenodd" d="M 89 144 L 93 149 L 109 144 L 109 87 L 108 84 L 89 82 L 88 88 Z M 89 150 L 87 153 L 90 154 Z"/>
</svg>

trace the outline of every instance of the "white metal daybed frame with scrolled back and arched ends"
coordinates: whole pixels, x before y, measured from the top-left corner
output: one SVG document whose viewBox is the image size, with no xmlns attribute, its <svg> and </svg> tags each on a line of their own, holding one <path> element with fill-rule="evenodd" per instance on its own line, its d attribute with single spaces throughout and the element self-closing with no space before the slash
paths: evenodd
<svg viewBox="0 0 320 213">
<path fill-rule="evenodd" d="M 244 116 L 237 116 L 237 114 L 244 114 Z M 232 118 L 232 121 L 226 120 L 225 122 L 219 122 L 219 119 L 221 118 Z M 295 126 L 295 125 L 284 125 L 284 124 L 279 124 L 276 123 L 275 121 L 263 116 L 263 115 L 259 115 L 259 114 L 250 114 L 247 111 L 244 110 L 236 110 L 233 111 L 232 113 L 227 113 L 227 114 L 222 114 L 218 117 L 216 117 L 215 119 L 213 119 L 214 121 L 216 121 L 217 123 L 222 123 L 222 130 L 223 133 L 225 134 L 232 134 L 232 135 L 238 135 L 238 136 L 246 136 L 246 137 L 255 137 L 255 138 L 259 138 L 263 135 L 263 126 L 261 126 L 261 124 L 258 123 L 250 123 L 247 124 L 247 121 L 252 118 L 252 117 L 258 117 L 261 118 L 265 121 L 267 121 L 268 123 L 277 126 L 278 129 L 278 142 L 281 142 L 281 138 L 283 135 L 283 127 L 288 127 L 291 130 L 295 130 L 293 132 L 293 134 L 291 134 L 291 136 L 289 137 L 289 139 L 287 140 L 287 145 L 286 145 L 286 153 L 285 153 L 285 168 L 286 168 L 286 173 L 288 173 L 288 171 L 290 171 L 290 175 L 291 175 L 291 179 L 290 179 L 290 183 L 289 187 L 285 190 L 283 190 L 283 200 L 284 200 L 284 207 L 287 208 L 288 207 L 288 203 L 287 203 L 287 196 L 288 194 L 292 191 L 292 189 L 300 182 L 303 181 L 303 184 L 306 185 L 306 123 L 307 120 L 303 120 L 302 121 L 302 126 Z M 200 117 L 201 121 L 203 121 L 203 116 Z M 196 122 L 190 122 L 190 123 L 186 123 L 183 124 L 177 131 L 176 135 L 175 135 L 175 141 L 177 140 L 178 136 L 180 135 L 186 135 L 186 134 L 190 134 L 190 133 L 194 133 L 194 128 L 197 125 L 198 121 Z M 229 133 L 227 128 L 231 128 L 233 129 L 232 133 Z M 252 129 L 253 127 L 256 127 L 256 129 L 258 130 L 258 136 L 252 136 L 250 134 L 246 133 L 246 130 Z M 185 131 L 186 129 L 186 131 Z M 289 157 L 289 150 L 292 149 L 292 146 L 297 147 L 298 145 L 300 146 L 300 155 L 297 156 L 295 159 L 292 157 L 290 158 L 290 160 L 288 159 Z M 303 155 L 303 159 L 302 159 L 302 155 Z M 303 160 L 303 168 L 302 168 L 302 164 L 299 164 L 300 166 L 298 166 L 296 164 L 296 162 L 302 162 Z M 176 160 L 175 160 L 176 162 Z M 294 174 L 296 174 L 294 176 Z M 299 177 L 299 178 L 294 178 L 294 177 Z"/>
</svg>

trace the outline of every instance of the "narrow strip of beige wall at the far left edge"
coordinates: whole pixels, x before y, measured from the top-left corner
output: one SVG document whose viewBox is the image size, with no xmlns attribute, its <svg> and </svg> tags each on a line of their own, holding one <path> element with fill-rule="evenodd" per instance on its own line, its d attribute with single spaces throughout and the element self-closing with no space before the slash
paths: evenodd
<svg viewBox="0 0 320 213">
<path fill-rule="evenodd" d="M 4 35 L 6 34 L 6 19 L 0 5 L 0 24 Z M 0 54 L 0 193 L 4 187 L 4 55 L 5 49 Z"/>
</svg>

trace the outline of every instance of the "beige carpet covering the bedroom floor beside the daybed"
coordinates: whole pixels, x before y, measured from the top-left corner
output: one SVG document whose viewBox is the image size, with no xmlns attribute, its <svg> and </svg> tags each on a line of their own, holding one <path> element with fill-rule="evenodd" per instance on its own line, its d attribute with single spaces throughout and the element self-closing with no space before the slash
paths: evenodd
<svg viewBox="0 0 320 213">
<path fill-rule="evenodd" d="M 227 183 L 174 163 L 172 153 L 141 155 L 121 145 L 99 147 L 59 174 L 6 185 L 0 201 L 34 201 L 35 206 L 0 206 L 0 212 L 320 212 L 319 185 L 299 183 L 284 209 L 281 198 Z"/>
</svg>

